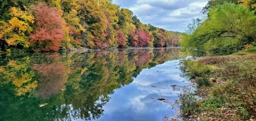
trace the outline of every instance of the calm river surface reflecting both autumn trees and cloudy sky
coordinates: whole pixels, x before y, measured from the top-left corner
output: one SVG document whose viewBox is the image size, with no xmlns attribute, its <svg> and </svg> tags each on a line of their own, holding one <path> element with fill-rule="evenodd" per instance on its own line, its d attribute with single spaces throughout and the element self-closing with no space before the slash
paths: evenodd
<svg viewBox="0 0 256 121">
<path fill-rule="evenodd" d="M 0 120 L 175 117 L 189 85 L 178 59 L 179 49 L 0 54 Z"/>
</svg>

